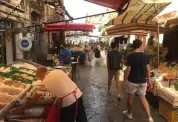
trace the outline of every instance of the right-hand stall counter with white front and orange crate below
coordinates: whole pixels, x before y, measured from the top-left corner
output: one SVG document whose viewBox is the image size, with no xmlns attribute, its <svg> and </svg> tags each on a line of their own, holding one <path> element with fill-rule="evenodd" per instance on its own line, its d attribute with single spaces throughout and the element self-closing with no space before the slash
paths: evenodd
<svg viewBox="0 0 178 122">
<path fill-rule="evenodd" d="M 159 98 L 159 114 L 168 122 L 178 121 L 178 67 L 161 65 L 151 72 L 151 92 Z M 153 99 L 153 101 L 155 101 Z"/>
</svg>

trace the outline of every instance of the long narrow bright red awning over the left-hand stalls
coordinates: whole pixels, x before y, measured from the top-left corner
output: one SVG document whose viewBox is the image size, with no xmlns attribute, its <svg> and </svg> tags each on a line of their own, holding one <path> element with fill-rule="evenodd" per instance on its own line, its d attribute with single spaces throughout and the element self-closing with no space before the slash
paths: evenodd
<svg viewBox="0 0 178 122">
<path fill-rule="evenodd" d="M 92 24 L 79 23 L 54 23 L 44 27 L 45 31 L 92 31 L 95 26 Z"/>
</svg>

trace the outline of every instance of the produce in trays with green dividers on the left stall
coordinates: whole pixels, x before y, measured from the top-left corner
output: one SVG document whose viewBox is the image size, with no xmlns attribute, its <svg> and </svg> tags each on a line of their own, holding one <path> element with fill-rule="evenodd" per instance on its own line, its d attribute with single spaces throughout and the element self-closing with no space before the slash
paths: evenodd
<svg viewBox="0 0 178 122">
<path fill-rule="evenodd" d="M 45 91 L 44 86 L 35 86 L 36 82 L 41 83 L 36 77 L 36 66 L 41 65 L 23 61 L 11 65 L 0 64 L 0 118 L 7 116 L 7 113 L 11 116 L 11 110 L 18 107 L 25 107 L 24 110 L 30 106 L 38 108 L 39 105 L 50 108 L 54 103 L 56 97 L 53 94 Z M 68 71 L 70 68 L 66 69 Z M 30 109 L 30 112 L 36 116 L 36 109 Z"/>
</svg>

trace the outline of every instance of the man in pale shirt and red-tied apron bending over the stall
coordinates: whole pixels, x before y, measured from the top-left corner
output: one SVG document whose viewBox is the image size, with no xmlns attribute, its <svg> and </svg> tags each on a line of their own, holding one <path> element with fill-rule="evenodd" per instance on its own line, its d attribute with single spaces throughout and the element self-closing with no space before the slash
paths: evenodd
<svg viewBox="0 0 178 122">
<path fill-rule="evenodd" d="M 60 104 L 61 109 L 60 122 L 87 122 L 82 92 L 66 73 L 39 67 L 36 76 L 46 90 L 57 97 L 57 104 Z"/>
</svg>

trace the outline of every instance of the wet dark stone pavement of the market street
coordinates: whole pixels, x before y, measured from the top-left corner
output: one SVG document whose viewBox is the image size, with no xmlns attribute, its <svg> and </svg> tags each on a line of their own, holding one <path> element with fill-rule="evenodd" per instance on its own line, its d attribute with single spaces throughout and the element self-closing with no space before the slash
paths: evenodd
<svg viewBox="0 0 178 122">
<path fill-rule="evenodd" d="M 93 66 L 81 66 L 80 74 L 77 84 L 84 94 L 89 122 L 147 122 L 143 107 L 136 97 L 133 120 L 124 118 L 122 111 L 126 109 L 126 94 L 122 91 L 123 99 L 118 101 L 114 82 L 111 92 L 107 92 L 107 71 L 103 59 L 94 60 Z M 158 110 L 151 108 L 151 112 L 155 122 L 166 122 L 158 114 Z"/>
</svg>

